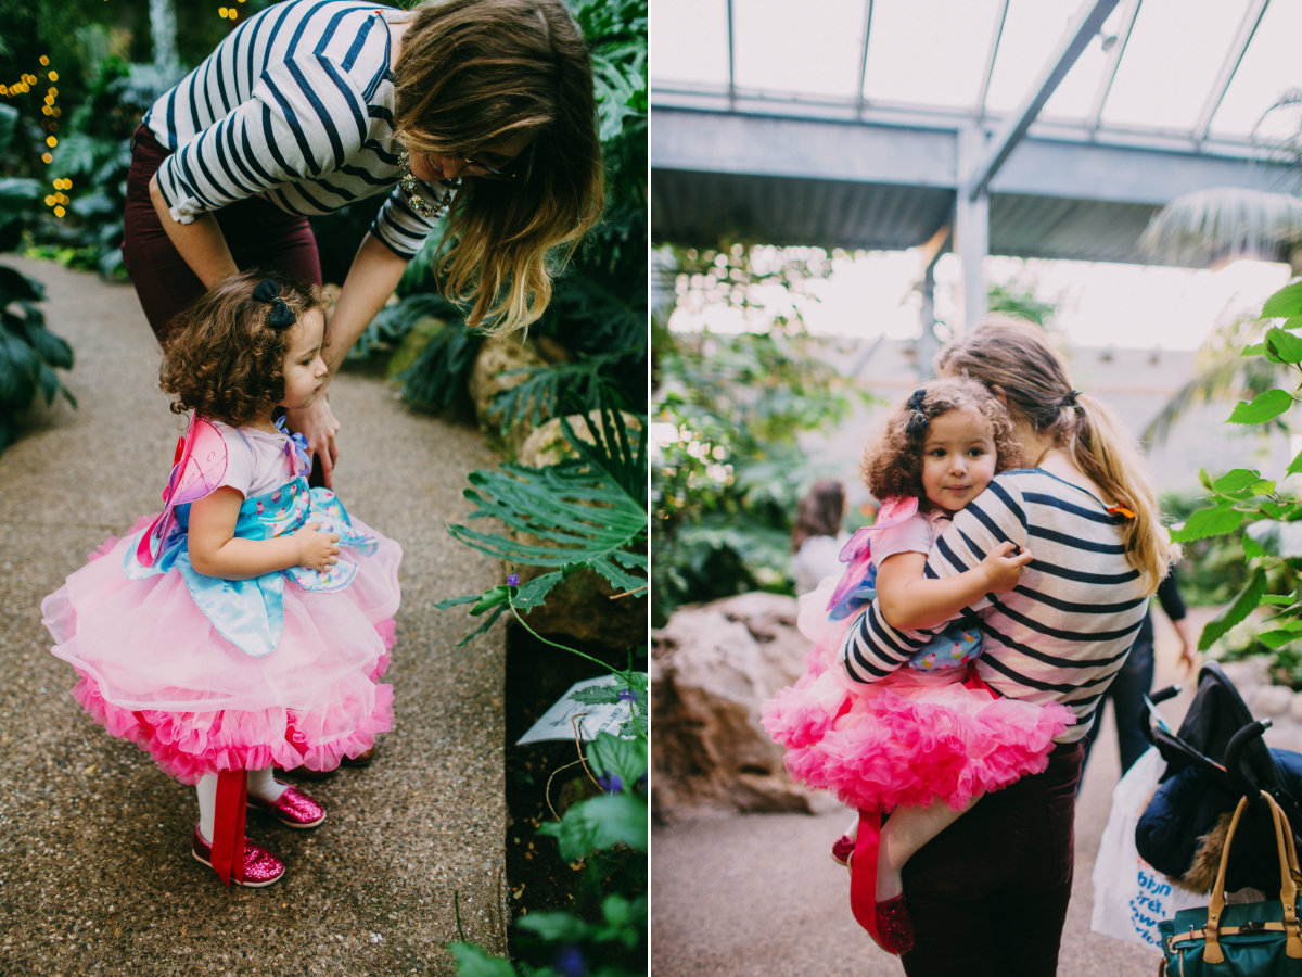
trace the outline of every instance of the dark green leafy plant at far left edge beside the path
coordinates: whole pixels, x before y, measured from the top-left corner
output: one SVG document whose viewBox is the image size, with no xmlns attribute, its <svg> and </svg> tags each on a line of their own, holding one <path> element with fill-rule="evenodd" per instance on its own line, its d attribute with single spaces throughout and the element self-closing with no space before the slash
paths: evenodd
<svg viewBox="0 0 1302 977">
<path fill-rule="evenodd" d="M 4 155 L 17 125 L 18 112 L 0 106 L 0 156 Z M 0 250 L 16 242 L 31 202 L 40 195 L 35 180 L 0 177 Z M 0 452 L 17 436 L 17 416 L 39 393 L 46 404 L 62 395 L 77 406 L 56 369 L 70 370 L 73 348 L 46 328 L 46 314 L 38 302 L 46 287 L 20 271 L 0 264 Z"/>
</svg>

